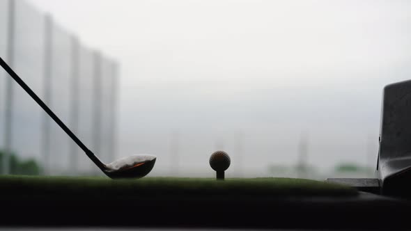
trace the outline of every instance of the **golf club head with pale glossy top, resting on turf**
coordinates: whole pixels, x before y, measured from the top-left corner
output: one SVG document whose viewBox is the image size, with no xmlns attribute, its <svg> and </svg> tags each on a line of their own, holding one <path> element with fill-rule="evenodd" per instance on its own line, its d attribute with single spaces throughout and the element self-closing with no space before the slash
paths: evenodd
<svg viewBox="0 0 411 231">
<path fill-rule="evenodd" d="M 104 173 L 112 178 L 141 178 L 150 173 L 157 157 L 149 154 L 134 154 L 106 165 Z"/>
</svg>

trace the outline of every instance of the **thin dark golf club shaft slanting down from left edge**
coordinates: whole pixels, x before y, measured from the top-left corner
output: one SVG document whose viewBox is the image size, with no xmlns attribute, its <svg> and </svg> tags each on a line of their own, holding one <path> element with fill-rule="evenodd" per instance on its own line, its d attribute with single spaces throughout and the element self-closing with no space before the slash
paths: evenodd
<svg viewBox="0 0 411 231">
<path fill-rule="evenodd" d="M 77 138 L 77 136 L 75 136 L 75 134 L 73 134 L 70 129 L 65 126 L 63 121 L 61 121 L 59 117 L 57 117 L 56 114 L 54 114 L 54 112 L 49 109 L 49 107 L 44 102 L 42 102 L 42 100 L 36 95 L 36 93 L 34 93 L 33 90 L 31 90 L 31 88 L 29 88 L 29 86 L 27 86 L 27 84 L 24 83 L 22 79 L 20 79 L 20 77 L 13 71 L 13 69 L 11 69 L 11 67 L 7 65 L 6 62 L 3 61 L 3 58 L 1 57 L 0 65 L 4 70 L 6 70 L 8 74 L 10 74 L 10 77 L 12 77 L 17 83 L 19 83 L 19 85 L 26 91 L 26 93 L 28 93 L 34 99 L 34 101 L 36 101 L 37 104 L 41 106 L 41 108 L 61 127 L 61 129 L 63 129 L 63 131 L 68 134 L 68 136 L 70 136 L 70 138 L 72 138 L 72 140 L 75 141 L 75 143 L 77 143 L 77 145 L 79 145 L 79 147 L 82 148 L 84 152 L 86 152 L 87 156 L 94 162 L 94 164 L 96 164 L 100 169 L 104 169 L 105 165 L 102 163 L 102 161 L 95 157 L 95 154 L 93 154 L 91 150 L 88 150 L 86 145 L 84 145 L 84 143 L 82 143 L 82 141 L 80 141 L 79 138 Z"/>
</svg>

